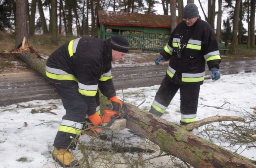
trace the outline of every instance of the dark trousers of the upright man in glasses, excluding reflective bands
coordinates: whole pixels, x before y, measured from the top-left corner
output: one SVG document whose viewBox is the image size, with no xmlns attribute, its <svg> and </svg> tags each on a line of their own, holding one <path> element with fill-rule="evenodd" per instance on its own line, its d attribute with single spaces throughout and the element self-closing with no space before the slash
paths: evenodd
<svg viewBox="0 0 256 168">
<path fill-rule="evenodd" d="M 180 112 L 184 115 L 196 114 L 200 85 L 177 85 L 165 76 L 155 95 L 155 101 L 168 107 L 176 92 L 180 89 Z"/>
</svg>

